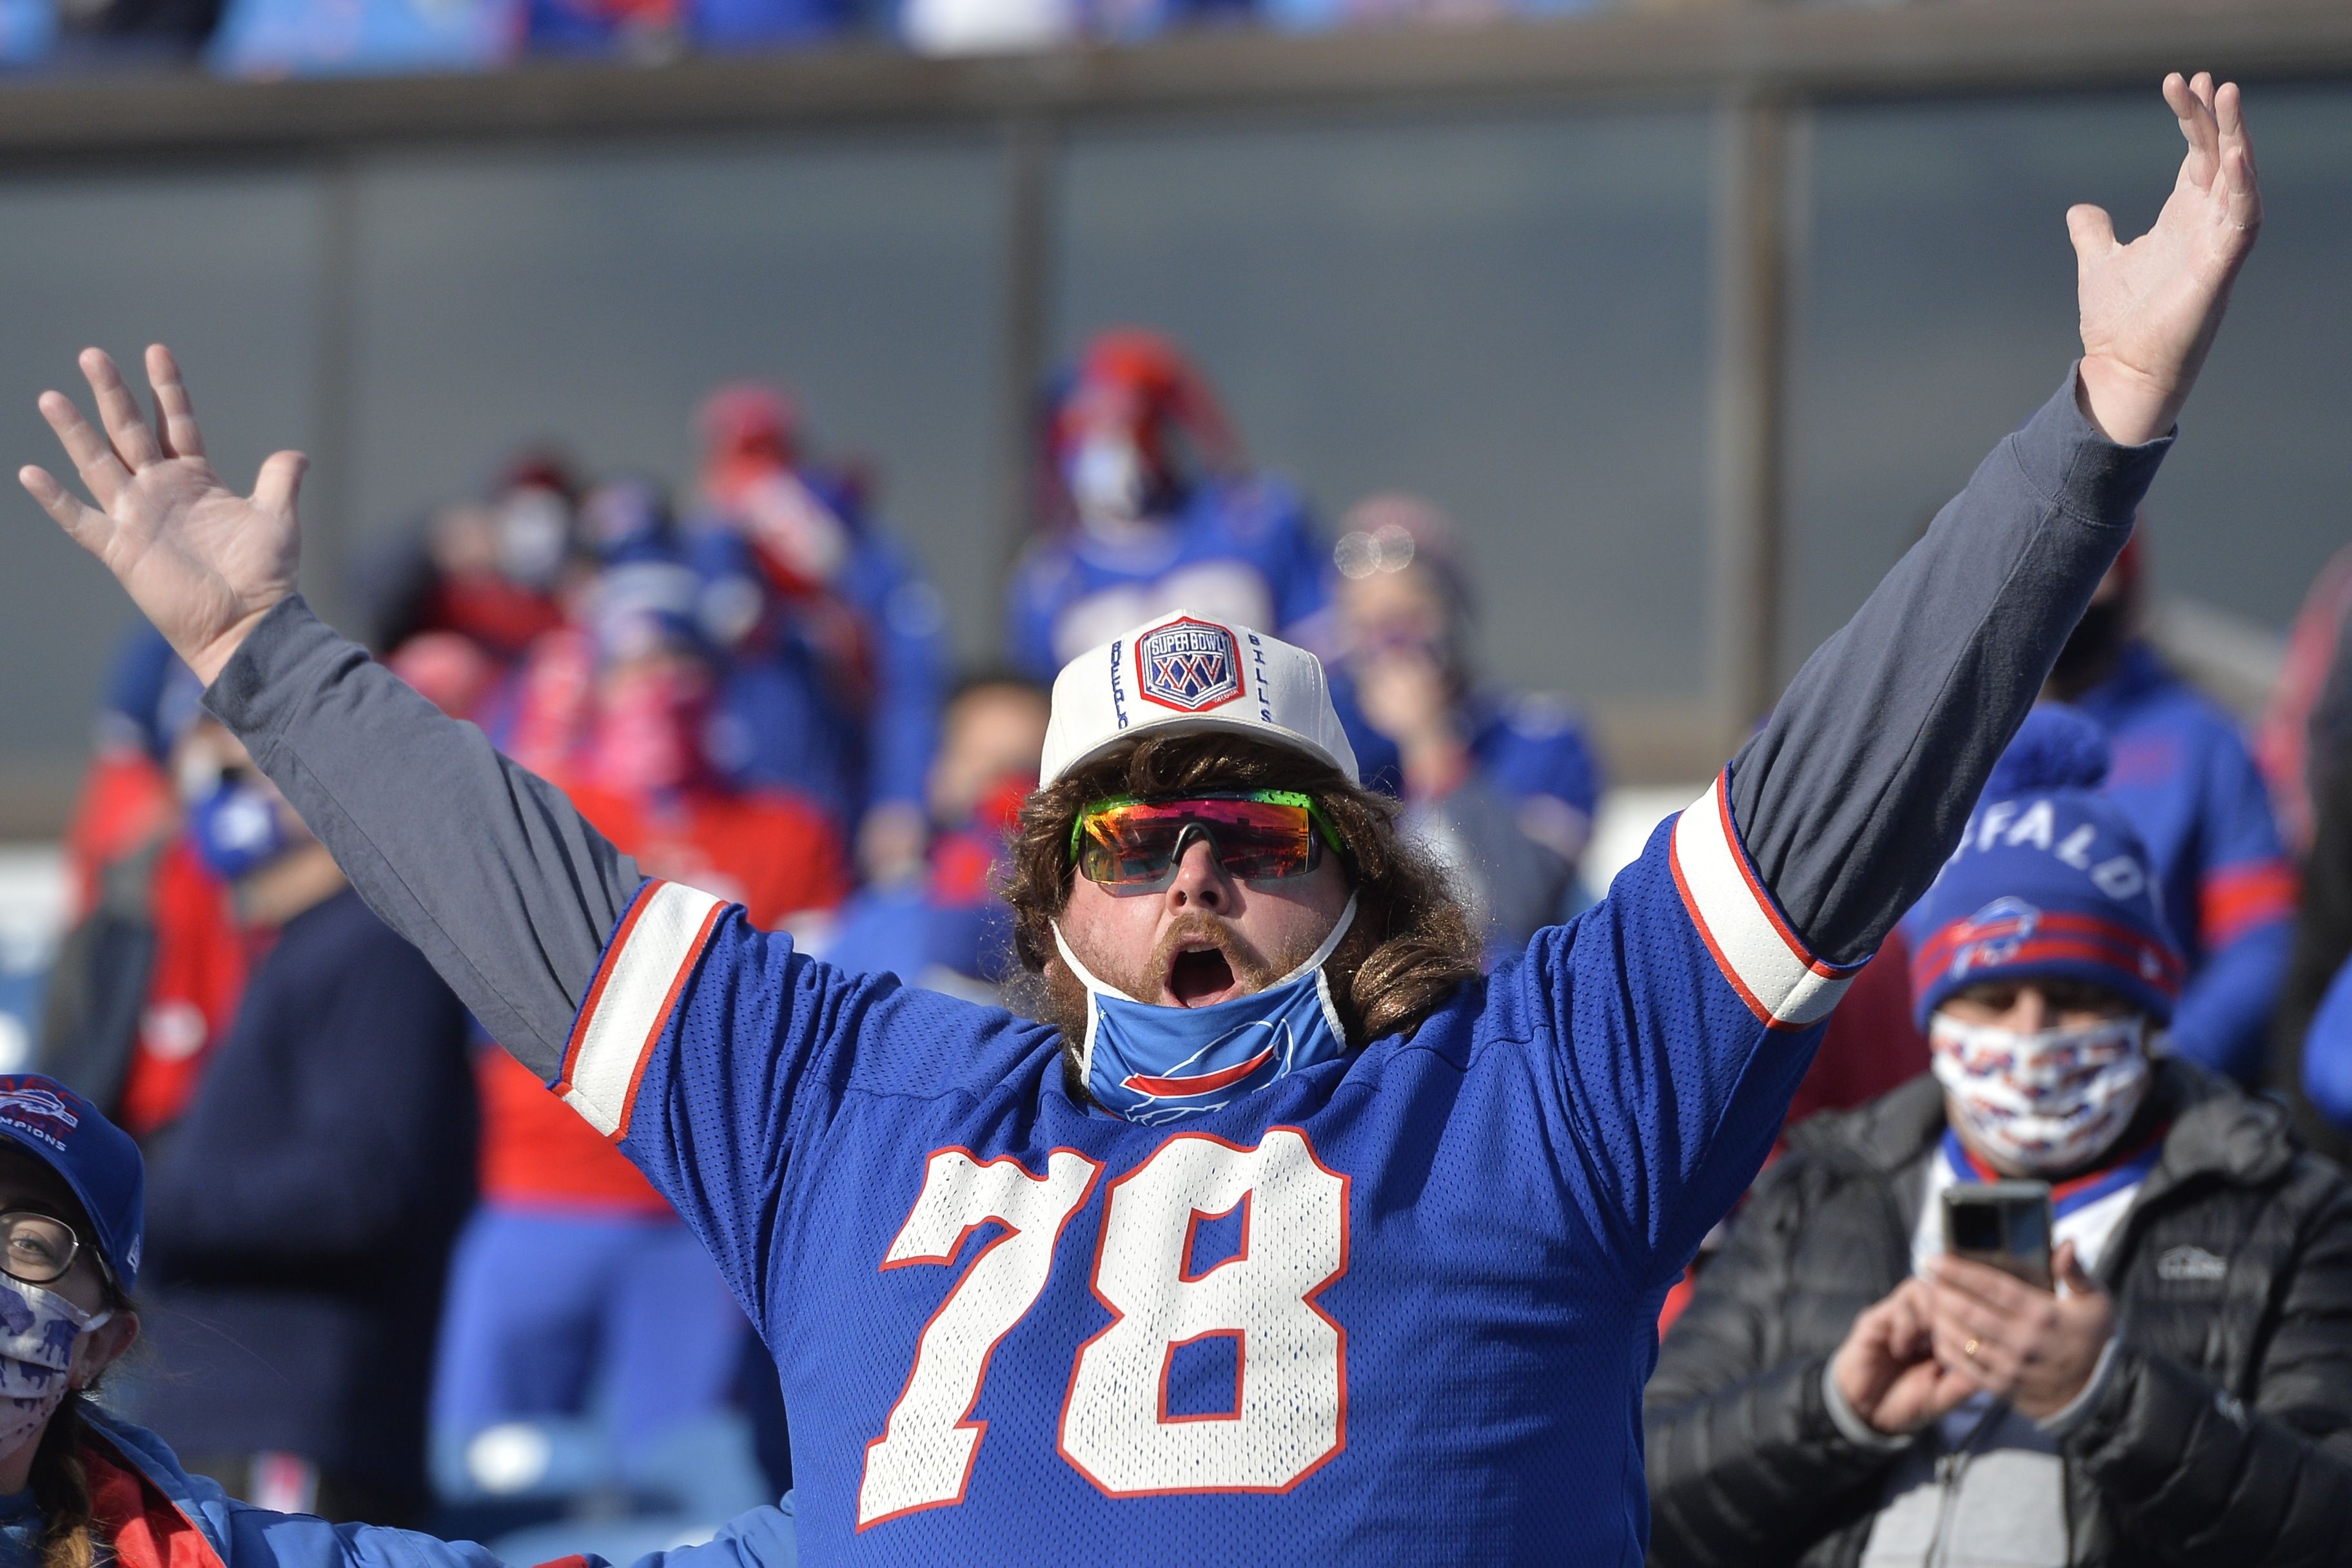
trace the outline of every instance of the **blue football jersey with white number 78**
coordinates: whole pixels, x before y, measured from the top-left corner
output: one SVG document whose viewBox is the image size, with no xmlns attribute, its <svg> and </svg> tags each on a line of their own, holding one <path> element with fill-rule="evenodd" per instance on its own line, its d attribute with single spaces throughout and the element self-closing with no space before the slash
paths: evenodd
<svg viewBox="0 0 2352 1568">
<path fill-rule="evenodd" d="M 809 1561 L 1632 1566 L 1658 1302 L 1851 973 L 1726 802 L 1411 1037 L 1174 1128 L 663 882 L 553 1088 L 776 1354 Z"/>
</svg>

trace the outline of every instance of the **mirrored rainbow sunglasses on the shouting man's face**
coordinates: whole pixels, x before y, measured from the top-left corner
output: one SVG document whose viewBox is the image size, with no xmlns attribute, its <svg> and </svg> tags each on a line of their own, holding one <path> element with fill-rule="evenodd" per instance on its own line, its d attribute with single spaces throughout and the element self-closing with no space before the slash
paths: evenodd
<svg viewBox="0 0 2352 1568">
<path fill-rule="evenodd" d="M 1338 830 L 1310 795 L 1242 790 L 1185 799 L 1098 799 L 1070 823 L 1070 860 L 1087 882 L 1120 893 L 1157 893 L 1176 882 L 1176 867 L 1195 835 L 1209 839 L 1216 863 L 1242 882 L 1305 877 L 1322 865 L 1324 844 L 1345 853 Z"/>
</svg>

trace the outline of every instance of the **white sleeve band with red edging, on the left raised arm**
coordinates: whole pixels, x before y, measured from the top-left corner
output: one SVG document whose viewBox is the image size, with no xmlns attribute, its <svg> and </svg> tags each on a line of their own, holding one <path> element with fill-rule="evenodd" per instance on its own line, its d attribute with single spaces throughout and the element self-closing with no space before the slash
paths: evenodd
<svg viewBox="0 0 2352 1568">
<path fill-rule="evenodd" d="M 604 947 L 555 1093 L 614 1143 L 628 1135 L 644 1063 L 724 907 L 710 893 L 649 882 Z"/>
</svg>

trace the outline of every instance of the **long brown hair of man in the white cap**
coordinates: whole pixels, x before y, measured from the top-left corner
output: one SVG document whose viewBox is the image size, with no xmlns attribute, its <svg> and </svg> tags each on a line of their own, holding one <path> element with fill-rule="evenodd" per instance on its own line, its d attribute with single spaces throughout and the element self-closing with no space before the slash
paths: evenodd
<svg viewBox="0 0 2352 1568">
<path fill-rule="evenodd" d="M 1397 832 L 1397 802 L 1348 783 L 1338 769 L 1247 736 L 1145 736 L 1131 750 L 1063 773 L 1021 806 L 1011 870 L 1016 999 L 1058 1025 L 1063 1048 L 1084 1034 L 1084 992 L 1054 952 L 1054 917 L 1070 903 L 1077 867 L 1070 825 L 1105 795 L 1181 797 L 1200 790 L 1298 790 L 1310 795 L 1348 851 L 1355 926 L 1324 966 L 1348 1044 L 1411 1032 L 1479 973 L 1479 933 L 1446 872 Z"/>
</svg>

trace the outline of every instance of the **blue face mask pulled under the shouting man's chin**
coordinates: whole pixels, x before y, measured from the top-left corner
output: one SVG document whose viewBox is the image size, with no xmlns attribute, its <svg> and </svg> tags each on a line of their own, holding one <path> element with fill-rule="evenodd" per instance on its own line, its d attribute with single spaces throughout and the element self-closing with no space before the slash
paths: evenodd
<svg viewBox="0 0 2352 1568">
<path fill-rule="evenodd" d="M 1155 1006 L 1094 978 L 1061 926 L 1054 945 L 1087 987 L 1080 1072 L 1115 1117 L 1167 1126 L 1221 1110 L 1275 1079 L 1343 1053 L 1345 1032 L 1322 966 L 1355 924 L 1355 898 L 1315 954 L 1261 992 L 1209 1006 Z"/>
</svg>

